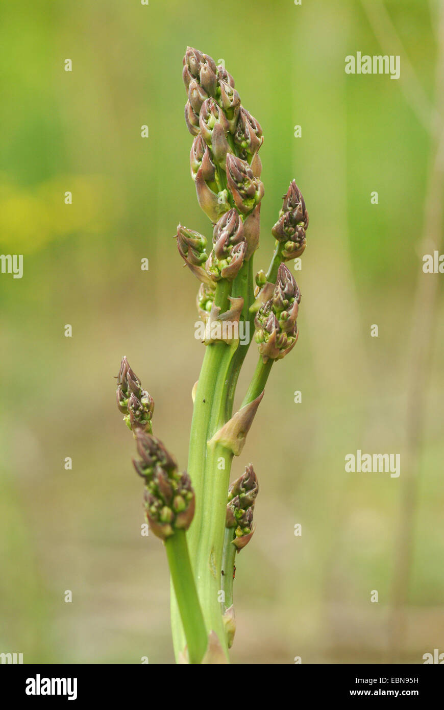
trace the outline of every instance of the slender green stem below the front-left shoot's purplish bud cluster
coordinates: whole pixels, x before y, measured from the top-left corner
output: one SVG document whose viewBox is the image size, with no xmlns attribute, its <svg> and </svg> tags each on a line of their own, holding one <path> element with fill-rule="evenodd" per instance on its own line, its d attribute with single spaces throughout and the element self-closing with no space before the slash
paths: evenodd
<svg viewBox="0 0 444 710">
<path fill-rule="evenodd" d="M 200 663 L 206 651 L 208 637 L 189 561 L 185 531 L 176 530 L 174 535 L 165 540 L 165 547 L 174 593 L 187 639 L 188 659 L 190 663 Z"/>
</svg>

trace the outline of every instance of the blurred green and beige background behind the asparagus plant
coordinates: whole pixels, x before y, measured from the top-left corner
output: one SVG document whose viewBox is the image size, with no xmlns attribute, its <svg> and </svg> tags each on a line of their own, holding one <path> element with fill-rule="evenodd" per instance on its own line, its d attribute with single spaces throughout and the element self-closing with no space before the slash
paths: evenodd
<svg viewBox="0 0 444 710">
<path fill-rule="evenodd" d="M 438 5 L 371 5 L 372 18 L 357 0 L 2 4 L 0 252 L 24 261 L 22 279 L 0 275 L 0 652 L 173 662 L 166 558 L 140 535 L 142 490 L 113 376 L 126 354 L 155 398 L 157 434 L 186 466 L 204 346 L 194 339 L 198 284 L 172 236 L 179 221 L 210 234 L 189 176 L 187 45 L 225 59 L 262 124 L 257 268 L 270 261 L 292 178 L 310 215 L 295 273 L 299 342 L 274 366 L 233 464 L 238 476 L 254 462 L 260 496 L 237 561 L 232 660 L 420 663 L 444 651 L 440 293 L 427 378 L 409 355 L 416 285 L 442 278 L 421 271 L 433 140 L 412 79 L 433 105 Z M 345 74 L 346 55 L 396 55 L 398 43 L 399 81 Z M 250 352 L 245 370 L 255 361 Z M 416 378 L 418 466 L 406 423 Z M 239 396 L 247 386 L 243 372 Z M 401 453 L 401 476 L 345 474 L 356 449 Z M 396 580 L 406 603 L 393 640 Z"/>
</svg>

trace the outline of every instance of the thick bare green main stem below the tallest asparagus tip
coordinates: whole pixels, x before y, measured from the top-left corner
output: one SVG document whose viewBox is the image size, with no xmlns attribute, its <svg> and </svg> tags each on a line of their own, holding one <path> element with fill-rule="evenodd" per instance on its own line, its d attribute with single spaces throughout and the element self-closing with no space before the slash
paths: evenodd
<svg viewBox="0 0 444 710">
<path fill-rule="evenodd" d="M 269 270 L 269 274 L 275 272 L 274 280 L 280 261 L 278 246 Z M 250 258 L 235 278 L 231 290 L 233 296 L 242 296 L 244 299 L 241 318 L 250 324 L 250 336 L 254 332 L 254 314 L 250 313 L 250 305 L 254 300 L 253 285 L 252 258 Z M 219 281 L 216 287 L 215 305 L 221 307 L 222 312 L 228 307 L 230 288 L 231 285 L 225 280 Z M 227 657 L 226 633 L 218 593 L 221 586 L 222 555 L 231 556 L 235 553 L 234 545 L 231 545 L 234 553 L 232 550 L 228 552 L 224 545 L 226 498 L 233 454 L 221 444 L 216 444 L 213 449 L 209 449 L 206 442 L 231 418 L 235 386 L 249 346 L 250 342 L 239 346 L 237 344 L 227 346 L 223 343 L 206 346 L 196 389 L 188 461 L 188 471 L 196 493 L 196 513 L 187 535 L 196 588 L 204 613 L 206 630 L 216 632 Z M 266 374 L 262 373 L 262 368 L 258 366 L 247 396 L 250 396 L 260 383 L 265 386 L 271 364 L 272 362 L 264 366 Z M 262 389 L 257 394 L 260 394 Z M 231 577 L 232 575 L 231 571 Z M 172 595 L 172 630 L 176 654 L 184 645 L 184 634 L 178 616 L 176 602 Z"/>
</svg>

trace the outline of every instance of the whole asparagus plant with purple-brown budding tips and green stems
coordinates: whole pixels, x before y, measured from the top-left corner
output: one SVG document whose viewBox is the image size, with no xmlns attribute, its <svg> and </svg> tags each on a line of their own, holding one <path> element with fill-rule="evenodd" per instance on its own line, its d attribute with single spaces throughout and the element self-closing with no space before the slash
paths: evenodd
<svg viewBox="0 0 444 710">
<path fill-rule="evenodd" d="M 185 122 L 194 136 L 192 180 L 212 225 L 211 240 L 179 224 L 177 248 L 199 280 L 196 305 L 204 324 L 204 361 L 194 401 L 187 473 L 152 432 L 154 402 L 124 357 L 117 404 L 135 437 L 135 471 L 145 486 L 145 516 L 163 540 L 172 578 L 171 621 L 177 662 L 225 663 L 233 643 L 235 556 L 254 532 L 258 484 L 252 464 L 229 486 L 233 457 L 264 395 L 274 361 L 298 338 L 301 295 L 285 262 L 301 256 L 309 217 L 293 180 L 271 233 L 267 273 L 253 271 L 264 186 L 259 150 L 264 138 L 223 65 L 187 48 Z M 240 368 L 255 329 L 258 362 L 233 413 Z M 243 553 L 245 554 L 245 553 Z"/>
</svg>

